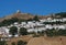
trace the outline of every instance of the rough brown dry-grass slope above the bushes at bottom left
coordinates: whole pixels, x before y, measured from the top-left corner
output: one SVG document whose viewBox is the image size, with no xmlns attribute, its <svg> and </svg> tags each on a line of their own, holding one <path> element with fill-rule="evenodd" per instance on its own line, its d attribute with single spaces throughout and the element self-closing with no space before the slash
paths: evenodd
<svg viewBox="0 0 66 45">
<path fill-rule="evenodd" d="M 25 35 L 20 37 L 13 37 L 10 41 L 8 41 L 8 45 L 11 45 L 12 42 L 18 43 L 18 41 L 29 42 L 32 38 L 32 36 Z"/>
</svg>

